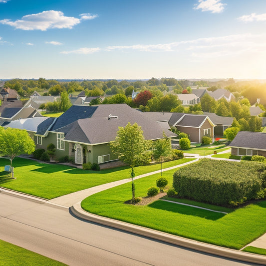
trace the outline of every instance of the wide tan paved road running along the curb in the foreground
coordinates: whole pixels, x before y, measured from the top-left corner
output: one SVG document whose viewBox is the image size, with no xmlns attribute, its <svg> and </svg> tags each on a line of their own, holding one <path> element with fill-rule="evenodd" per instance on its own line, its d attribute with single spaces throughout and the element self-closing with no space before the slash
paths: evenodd
<svg viewBox="0 0 266 266">
<path fill-rule="evenodd" d="M 81 221 L 68 208 L 3 192 L 0 239 L 73 266 L 253 265 Z"/>
</svg>

